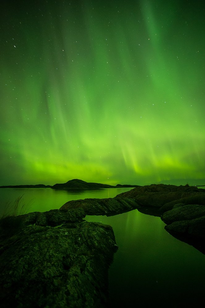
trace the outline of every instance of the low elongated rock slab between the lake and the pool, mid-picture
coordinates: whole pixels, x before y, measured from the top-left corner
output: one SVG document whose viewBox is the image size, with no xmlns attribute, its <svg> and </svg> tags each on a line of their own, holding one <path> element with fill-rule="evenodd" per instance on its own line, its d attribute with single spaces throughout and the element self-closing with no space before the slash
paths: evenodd
<svg viewBox="0 0 205 308">
<path fill-rule="evenodd" d="M 138 204 L 129 198 L 84 199 L 68 201 L 62 205 L 63 209 L 82 208 L 86 215 L 116 215 L 136 208 Z"/>
</svg>

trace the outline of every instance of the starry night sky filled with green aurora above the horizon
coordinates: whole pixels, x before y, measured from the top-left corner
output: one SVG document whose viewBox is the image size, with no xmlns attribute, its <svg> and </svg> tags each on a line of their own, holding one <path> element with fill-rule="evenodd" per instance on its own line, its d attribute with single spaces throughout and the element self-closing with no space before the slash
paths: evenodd
<svg viewBox="0 0 205 308">
<path fill-rule="evenodd" d="M 205 184 L 203 1 L 0 4 L 0 185 Z"/>
</svg>

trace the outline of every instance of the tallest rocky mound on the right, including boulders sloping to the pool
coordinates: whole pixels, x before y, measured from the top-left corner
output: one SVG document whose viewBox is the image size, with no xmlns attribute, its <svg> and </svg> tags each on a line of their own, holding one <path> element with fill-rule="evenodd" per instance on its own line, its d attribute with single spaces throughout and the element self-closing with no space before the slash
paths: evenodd
<svg viewBox="0 0 205 308">
<path fill-rule="evenodd" d="M 153 184 L 134 188 L 119 194 L 117 198 L 132 198 L 141 206 L 140 212 L 152 214 L 150 207 L 158 207 L 162 220 L 170 234 L 204 251 L 201 239 L 205 238 L 203 227 L 205 215 L 205 190 L 195 186 Z M 157 215 L 157 213 L 155 213 Z M 190 236 L 192 237 L 190 239 Z"/>
</svg>

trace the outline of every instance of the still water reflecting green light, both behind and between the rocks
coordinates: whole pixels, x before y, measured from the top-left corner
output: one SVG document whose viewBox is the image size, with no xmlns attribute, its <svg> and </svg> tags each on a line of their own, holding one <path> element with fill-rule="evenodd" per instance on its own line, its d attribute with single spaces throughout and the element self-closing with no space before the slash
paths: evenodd
<svg viewBox="0 0 205 308">
<path fill-rule="evenodd" d="M 0 215 L 5 203 L 19 196 L 26 212 L 60 208 L 70 200 L 113 198 L 130 188 L 100 190 L 0 189 Z M 164 230 L 160 217 L 133 210 L 116 216 L 86 216 L 111 225 L 118 251 L 109 270 L 112 307 L 202 307 L 205 256 Z"/>
</svg>

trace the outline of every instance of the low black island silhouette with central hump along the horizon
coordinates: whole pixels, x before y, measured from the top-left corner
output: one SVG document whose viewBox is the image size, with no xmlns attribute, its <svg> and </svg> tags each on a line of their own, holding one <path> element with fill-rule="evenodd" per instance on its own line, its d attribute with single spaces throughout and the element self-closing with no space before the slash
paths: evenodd
<svg viewBox="0 0 205 308">
<path fill-rule="evenodd" d="M 7 186 L 0 186 L 0 188 L 53 188 L 53 189 L 100 189 L 100 188 L 129 188 L 129 187 L 138 187 L 139 185 L 121 185 L 117 184 L 116 186 L 109 185 L 109 184 L 101 184 L 101 183 L 88 183 L 83 180 L 73 179 L 67 181 L 66 183 L 62 184 L 55 184 L 51 185 L 44 185 L 44 184 L 37 184 L 37 185 L 7 185 Z"/>
</svg>

